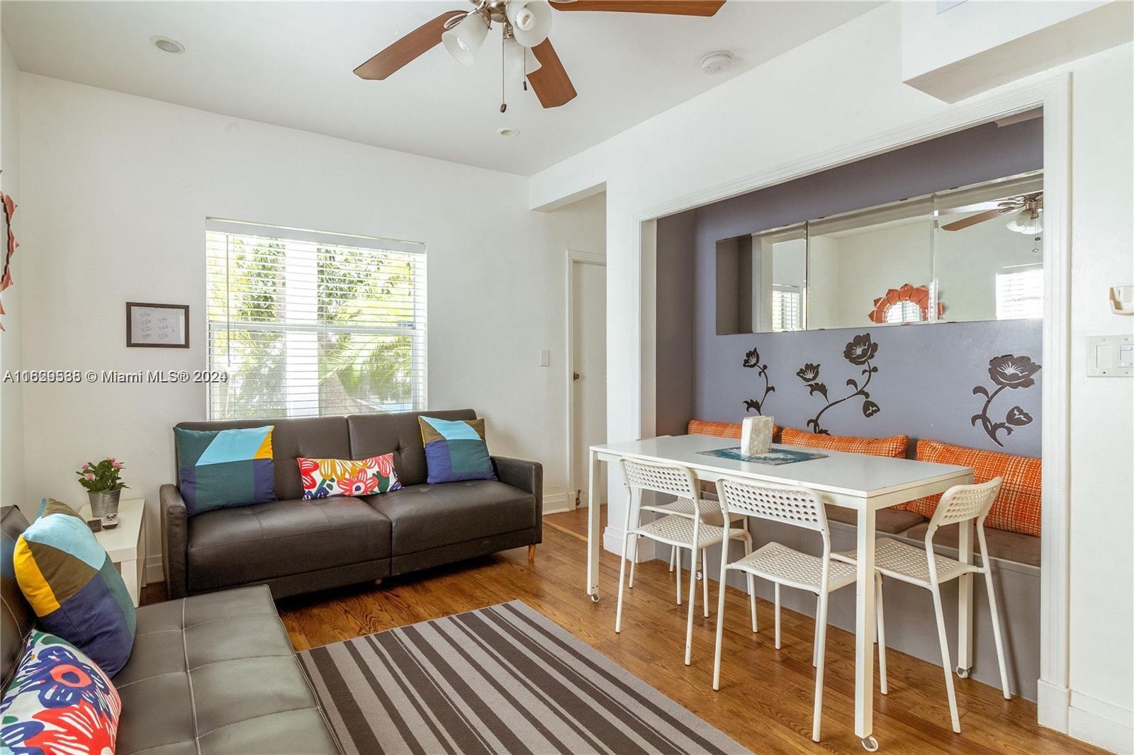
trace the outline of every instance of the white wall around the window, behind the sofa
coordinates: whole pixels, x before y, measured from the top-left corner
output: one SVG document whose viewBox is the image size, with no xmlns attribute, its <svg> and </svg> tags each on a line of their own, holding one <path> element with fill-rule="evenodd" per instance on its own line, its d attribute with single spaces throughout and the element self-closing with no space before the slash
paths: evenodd
<svg viewBox="0 0 1134 755">
<path fill-rule="evenodd" d="M 517 176 L 28 74 L 20 114 L 25 365 L 203 367 L 206 217 L 424 241 L 429 406 L 475 408 L 564 495 L 562 249 L 602 251 L 601 200 L 532 212 Z M 188 304 L 192 348 L 127 349 L 128 300 Z M 160 542 L 170 427 L 204 418 L 203 385 L 28 387 L 24 415 L 25 500 L 82 502 L 73 470 L 117 456 Z"/>
</svg>

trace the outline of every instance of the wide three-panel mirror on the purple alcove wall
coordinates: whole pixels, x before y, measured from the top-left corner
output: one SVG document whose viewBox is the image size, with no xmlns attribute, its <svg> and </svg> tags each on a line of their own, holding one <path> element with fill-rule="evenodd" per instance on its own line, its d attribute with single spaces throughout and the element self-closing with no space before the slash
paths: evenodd
<svg viewBox="0 0 1134 755">
<path fill-rule="evenodd" d="M 1040 171 L 717 243 L 717 333 L 1041 317 Z"/>
</svg>

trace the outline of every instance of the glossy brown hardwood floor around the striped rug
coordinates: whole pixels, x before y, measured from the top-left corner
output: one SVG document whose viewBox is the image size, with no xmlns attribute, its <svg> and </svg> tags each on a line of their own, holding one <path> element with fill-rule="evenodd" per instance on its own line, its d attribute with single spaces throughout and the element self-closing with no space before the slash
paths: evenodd
<svg viewBox="0 0 1134 755">
<path fill-rule="evenodd" d="M 585 512 L 584 512 L 585 515 Z M 573 515 L 576 516 L 577 515 Z M 553 517 L 559 517 L 553 519 Z M 854 644 L 828 631 L 823 741 L 811 741 L 812 619 L 782 617 L 782 650 L 772 644 L 772 608 L 759 605 L 761 631 L 747 623 L 747 599 L 728 589 L 721 690 L 712 690 L 716 625 L 701 616 L 693 636 L 693 665 L 682 662 L 685 609 L 674 603 L 672 575 L 660 561 L 637 568 L 623 631 L 616 635 L 618 559 L 602 553 L 600 591 L 583 593 L 584 543 L 568 534 L 570 518 L 551 515 L 534 563 L 525 549 L 450 567 L 279 601 L 296 650 L 519 599 L 604 653 L 631 673 L 727 732 L 756 753 L 862 753 L 852 726 Z M 699 591 L 700 593 L 700 591 Z M 716 616 L 716 583 L 710 591 Z M 926 629 L 929 630 L 929 629 Z M 949 729 L 941 669 L 897 651 L 887 653 L 890 694 L 875 695 L 874 733 L 885 753 L 1093 753 L 1082 743 L 1040 728 L 1035 705 L 1005 701 L 998 689 L 956 679 L 963 733 Z"/>
</svg>

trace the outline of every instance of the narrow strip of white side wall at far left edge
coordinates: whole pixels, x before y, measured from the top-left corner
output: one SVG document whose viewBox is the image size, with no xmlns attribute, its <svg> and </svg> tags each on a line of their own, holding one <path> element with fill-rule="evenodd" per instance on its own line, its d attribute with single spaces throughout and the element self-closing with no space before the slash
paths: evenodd
<svg viewBox="0 0 1134 755">
<path fill-rule="evenodd" d="M 19 69 L 8 50 L 8 43 L 0 37 L 0 188 L 10 194 L 17 204 L 24 204 L 19 176 Z M 20 303 L 24 291 L 24 270 L 27 248 L 24 241 L 24 207 L 16 210 L 12 229 L 20 241 L 20 248 L 11 260 L 12 286 L 0 294 L 6 314 L 0 315 L 5 330 L 0 332 L 0 381 L 3 373 L 23 367 Z M 7 254 L 8 239 L 0 235 L 0 265 Z M 24 389 L 19 383 L 0 382 L 0 502 L 22 502 L 24 493 Z M 24 507 L 25 514 L 35 509 Z"/>
</svg>

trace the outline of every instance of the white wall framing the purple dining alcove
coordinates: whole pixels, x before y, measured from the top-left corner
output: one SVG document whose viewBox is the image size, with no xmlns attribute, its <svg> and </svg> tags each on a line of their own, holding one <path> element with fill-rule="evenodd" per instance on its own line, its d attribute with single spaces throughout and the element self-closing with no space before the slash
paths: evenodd
<svg viewBox="0 0 1134 755">
<path fill-rule="evenodd" d="M 900 53 L 899 8 L 882 6 L 532 178 L 538 207 L 606 184 L 610 441 L 652 431 L 640 219 L 688 206 L 702 190 L 746 190 L 781 166 L 822 164 L 841 145 L 948 113 L 950 105 L 903 84 Z M 1128 380 L 1084 376 L 1084 341 L 1134 326 L 1106 308 L 1106 287 L 1132 274 L 1132 59 L 1125 44 L 1060 69 L 1074 90 L 1069 729 L 1116 749 L 1129 748 L 1134 710 L 1134 406 Z M 769 102 L 792 107 L 769 118 Z M 610 521 L 621 519 L 619 501 L 611 497 Z"/>
</svg>

